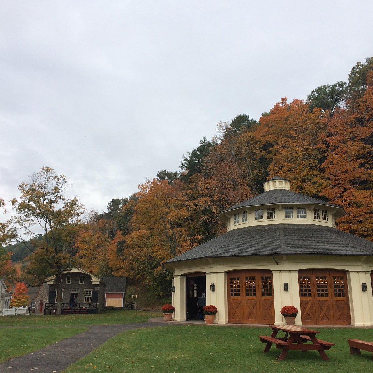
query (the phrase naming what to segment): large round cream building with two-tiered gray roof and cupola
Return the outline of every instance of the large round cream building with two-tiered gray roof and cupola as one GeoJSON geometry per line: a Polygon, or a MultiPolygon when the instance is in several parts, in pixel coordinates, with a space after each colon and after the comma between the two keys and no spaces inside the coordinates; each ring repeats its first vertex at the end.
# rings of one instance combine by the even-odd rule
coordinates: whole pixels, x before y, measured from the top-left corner
{"type": "Polygon", "coordinates": [[[373,325],[373,242],[340,231],[342,207],[290,190],[275,176],[264,193],[222,211],[227,232],[163,264],[173,273],[174,320],[282,325],[373,325]]]}

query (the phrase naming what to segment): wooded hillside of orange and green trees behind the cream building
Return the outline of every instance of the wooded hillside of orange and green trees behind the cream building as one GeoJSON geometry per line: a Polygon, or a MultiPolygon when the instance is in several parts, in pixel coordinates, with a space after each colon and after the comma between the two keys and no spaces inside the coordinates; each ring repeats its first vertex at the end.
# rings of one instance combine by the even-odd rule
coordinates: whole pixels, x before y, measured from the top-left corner
{"type": "Polygon", "coordinates": [[[373,240],[373,57],[348,82],[315,88],[306,101],[282,98],[259,122],[238,115],[218,133],[188,152],[180,171],[160,170],[136,194],[91,213],[75,238],[79,266],[167,294],[162,262],[225,232],[219,211],[263,192],[275,175],[344,207],[338,228],[373,240]]]}

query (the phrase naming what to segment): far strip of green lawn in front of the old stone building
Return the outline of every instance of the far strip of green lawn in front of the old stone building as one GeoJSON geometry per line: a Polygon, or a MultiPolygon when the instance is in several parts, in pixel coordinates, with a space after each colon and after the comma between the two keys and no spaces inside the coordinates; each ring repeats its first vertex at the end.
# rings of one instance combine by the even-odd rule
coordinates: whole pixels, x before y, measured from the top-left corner
{"type": "Polygon", "coordinates": [[[150,317],[162,317],[160,312],[137,310],[109,310],[103,313],[91,315],[26,315],[0,317],[0,326],[80,326],[80,325],[104,325],[141,323],[150,317]]]}

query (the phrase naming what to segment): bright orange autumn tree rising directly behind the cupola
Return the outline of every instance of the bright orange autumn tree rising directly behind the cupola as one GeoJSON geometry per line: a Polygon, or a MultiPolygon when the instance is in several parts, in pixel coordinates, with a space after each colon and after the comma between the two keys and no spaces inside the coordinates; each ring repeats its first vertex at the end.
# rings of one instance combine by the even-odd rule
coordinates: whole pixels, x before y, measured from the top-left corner
{"type": "Polygon", "coordinates": [[[321,109],[311,113],[303,100],[288,103],[286,97],[261,117],[255,135],[263,148],[268,174],[291,179],[297,192],[320,195],[328,117],[321,109]]]}

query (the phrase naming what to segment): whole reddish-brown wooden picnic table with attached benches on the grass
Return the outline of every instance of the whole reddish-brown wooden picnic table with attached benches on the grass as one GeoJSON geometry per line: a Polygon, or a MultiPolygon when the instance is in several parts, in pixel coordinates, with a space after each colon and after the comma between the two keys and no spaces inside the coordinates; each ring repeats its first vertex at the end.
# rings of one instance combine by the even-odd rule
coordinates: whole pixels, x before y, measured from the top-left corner
{"type": "Polygon", "coordinates": [[[276,348],[282,350],[278,360],[284,360],[289,350],[302,350],[303,352],[317,350],[323,360],[329,360],[325,350],[330,350],[330,347],[335,346],[334,343],[317,339],[316,334],[320,333],[318,330],[292,325],[269,325],[269,327],[272,328],[270,336],[258,335],[258,337],[260,338],[260,342],[266,343],[263,352],[268,352],[272,344],[275,344],[276,348]],[[276,338],[279,331],[285,332],[285,336],[276,338]]]}

